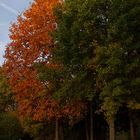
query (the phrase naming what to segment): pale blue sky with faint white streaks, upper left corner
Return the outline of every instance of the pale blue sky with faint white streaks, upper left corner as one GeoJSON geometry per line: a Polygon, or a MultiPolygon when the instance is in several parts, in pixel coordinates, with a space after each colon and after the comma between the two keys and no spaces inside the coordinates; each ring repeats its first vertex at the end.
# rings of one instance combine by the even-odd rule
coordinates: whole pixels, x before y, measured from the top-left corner
{"type": "Polygon", "coordinates": [[[9,27],[33,0],[0,0],[0,65],[4,62],[5,45],[10,42],[9,27]]]}

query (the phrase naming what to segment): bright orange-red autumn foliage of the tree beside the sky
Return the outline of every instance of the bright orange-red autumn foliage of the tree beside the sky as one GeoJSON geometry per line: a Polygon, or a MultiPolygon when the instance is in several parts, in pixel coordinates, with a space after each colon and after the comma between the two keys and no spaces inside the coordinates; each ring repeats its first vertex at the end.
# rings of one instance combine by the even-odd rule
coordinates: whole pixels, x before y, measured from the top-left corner
{"type": "Polygon", "coordinates": [[[53,9],[61,4],[59,0],[35,0],[10,28],[12,41],[6,48],[4,69],[23,118],[30,116],[33,120],[46,121],[63,115],[80,115],[75,101],[60,106],[60,101],[52,97],[55,80],[48,77],[40,80],[36,67],[41,64],[46,69],[56,69],[51,62],[55,47],[51,33],[57,28],[53,9]]]}

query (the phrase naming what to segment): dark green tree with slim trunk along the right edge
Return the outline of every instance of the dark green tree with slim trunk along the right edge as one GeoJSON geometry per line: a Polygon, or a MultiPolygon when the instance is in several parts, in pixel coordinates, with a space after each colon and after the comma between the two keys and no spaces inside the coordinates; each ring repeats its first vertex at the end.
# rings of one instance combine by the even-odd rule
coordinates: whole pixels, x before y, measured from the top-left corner
{"type": "Polygon", "coordinates": [[[128,3],[124,1],[123,4],[124,10],[126,11],[122,16],[119,18],[116,30],[116,37],[119,40],[121,46],[124,48],[125,53],[125,78],[126,78],[126,85],[125,88],[127,89],[127,96],[126,96],[126,104],[129,108],[130,114],[130,132],[131,132],[131,139],[135,139],[135,130],[134,130],[134,119],[135,118],[135,111],[139,109],[140,97],[139,97],[139,86],[140,86],[140,73],[138,71],[140,66],[140,47],[139,47],[139,1],[131,1],[128,3]],[[120,23],[122,23],[120,25],[120,23]],[[121,35],[120,31],[122,32],[121,35]],[[128,96],[129,95],[129,96],[128,96]]]}

